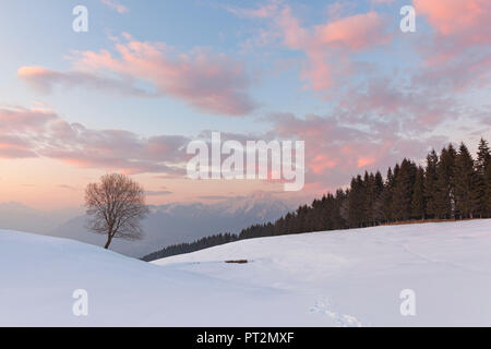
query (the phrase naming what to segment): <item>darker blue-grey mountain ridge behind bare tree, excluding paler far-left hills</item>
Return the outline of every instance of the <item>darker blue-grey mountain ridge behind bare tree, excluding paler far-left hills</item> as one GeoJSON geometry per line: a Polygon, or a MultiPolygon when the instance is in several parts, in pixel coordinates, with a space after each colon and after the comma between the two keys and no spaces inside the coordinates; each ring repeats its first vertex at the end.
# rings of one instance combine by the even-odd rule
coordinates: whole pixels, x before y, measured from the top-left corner
{"type": "MultiPolygon", "coordinates": [[[[192,242],[220,232],[238,233],[243,227],[275,220],[291,209],[291,205],[267,193],[230,197],[212,204],[151,205],[151,213],[143,222],[144,239],[115,240],[110,249],[128,256],[142,257],[167,245],[192,242]]],[[[85,225],[85,215],[80,215],[48,234],[103,245],[106,238],[89,232],[85,225]]]]}

